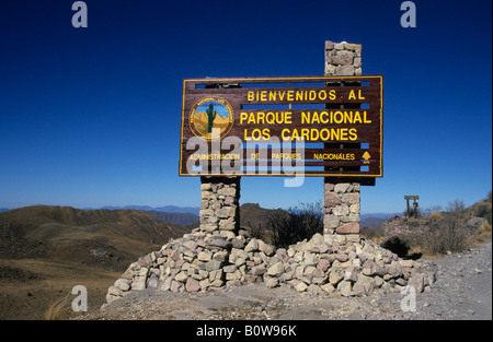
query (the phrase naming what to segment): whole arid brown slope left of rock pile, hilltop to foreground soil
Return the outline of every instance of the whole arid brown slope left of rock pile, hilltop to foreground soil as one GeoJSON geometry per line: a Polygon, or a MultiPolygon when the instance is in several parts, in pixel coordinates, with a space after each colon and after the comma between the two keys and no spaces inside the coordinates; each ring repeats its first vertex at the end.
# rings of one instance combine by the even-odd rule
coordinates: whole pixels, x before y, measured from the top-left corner
{"type": "Polygon", "coordinates": [[[88,288],[94,309],[128,263],[186,232],[138,210],[33,205],[1,212],[0,319],[68,318],[74,285],[88,288]]]}

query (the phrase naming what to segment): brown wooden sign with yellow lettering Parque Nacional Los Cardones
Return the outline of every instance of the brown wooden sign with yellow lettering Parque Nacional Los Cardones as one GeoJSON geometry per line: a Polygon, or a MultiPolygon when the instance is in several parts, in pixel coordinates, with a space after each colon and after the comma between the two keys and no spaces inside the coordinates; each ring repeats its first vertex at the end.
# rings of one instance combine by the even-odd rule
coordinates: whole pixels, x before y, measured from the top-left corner
{"type": "Polygon", "coordinates": [[[382,177],[383,78],[183,81],[180,176],[382,177]]]}

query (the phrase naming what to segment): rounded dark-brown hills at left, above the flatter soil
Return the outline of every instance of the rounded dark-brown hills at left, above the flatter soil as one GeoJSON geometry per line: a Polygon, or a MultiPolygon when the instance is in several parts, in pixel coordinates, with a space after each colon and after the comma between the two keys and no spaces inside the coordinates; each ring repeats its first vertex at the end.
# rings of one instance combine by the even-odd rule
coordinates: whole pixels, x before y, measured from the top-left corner
{"type": "Polygon", "coordinates": [[[185,232],[181,225],[137,210],[33,205],[0,213],[0,257],[33,257],[35,250],[36,258],[95,259],[101,264],[110,255],[134,258],[185,232]]]}

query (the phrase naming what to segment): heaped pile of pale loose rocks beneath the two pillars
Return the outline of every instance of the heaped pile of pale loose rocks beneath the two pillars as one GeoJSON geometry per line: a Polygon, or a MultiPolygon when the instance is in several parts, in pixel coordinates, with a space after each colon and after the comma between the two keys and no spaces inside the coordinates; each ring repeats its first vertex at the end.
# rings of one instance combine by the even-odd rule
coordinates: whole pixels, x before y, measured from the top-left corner
{"type": "Polygon", "coordinates": [[[374,291],[428,290],[434,273],[377,244],[345,235],[316,234],[274,248],[246,231],[231,237],[196,229],[131,263],[108,288],[112,303],[133,291],[206,292],[250,283],[287,284],[298,292],[363,296],[374,291]]]}

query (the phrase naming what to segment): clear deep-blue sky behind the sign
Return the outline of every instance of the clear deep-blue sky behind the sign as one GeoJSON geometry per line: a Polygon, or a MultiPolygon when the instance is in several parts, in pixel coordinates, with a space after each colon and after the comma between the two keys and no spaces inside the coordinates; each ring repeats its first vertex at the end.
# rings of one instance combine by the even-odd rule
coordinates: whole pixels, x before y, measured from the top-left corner
{"type": "MultiPolygon", "coordinates": [[[[182,80],[322,75],[324,42],[385,76],[383,178],[362,213],[467,205],[492,188],[492,4],[414,1],[2,1],[0,208],[198,207],[179,177],[182,80]]],[[[243,177],[241,203],[322,200],[322,179],[243,177]]]]}

